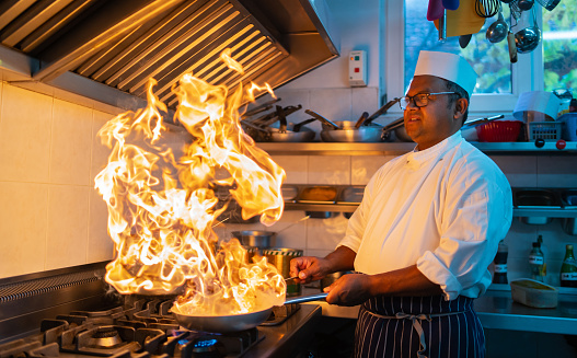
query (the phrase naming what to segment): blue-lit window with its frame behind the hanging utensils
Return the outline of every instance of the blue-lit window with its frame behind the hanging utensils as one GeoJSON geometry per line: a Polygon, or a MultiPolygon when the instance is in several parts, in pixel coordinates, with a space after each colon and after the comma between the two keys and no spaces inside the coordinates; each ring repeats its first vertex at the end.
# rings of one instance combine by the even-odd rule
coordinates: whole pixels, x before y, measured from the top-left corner
{"type": "Polygon", "coordinates": [[[535,50],[518,54],[515,65],[509,60],[507,39],[497,44],[486,39],[486,31],[497,15],[486,19],[469,46],[462,49],[458,37],[448,37],[445,43],[438,41],[438,30],[426,20],[428,1],[386,1],[385,85],[389,99],[404,93],[422,49],[460,54],[471,62],[480,74],[472,112],[510,112],[519,94],[527,91],[566,88],[573,89],[577,96],[577,25],[574,10],[569,10],[577,8],[577,0],[561,0],[552,11],[543,9],[539,1],[552,0],[535,1],[535,11],[523,11],[519,19],[511,19],[509,5],[501,3],[506,22],[511,24],[512,20],[513,33],[533,25],[534,13],[543,34],[535,50]],[[399,71],[399,68],[404,70],[399,71]]]}

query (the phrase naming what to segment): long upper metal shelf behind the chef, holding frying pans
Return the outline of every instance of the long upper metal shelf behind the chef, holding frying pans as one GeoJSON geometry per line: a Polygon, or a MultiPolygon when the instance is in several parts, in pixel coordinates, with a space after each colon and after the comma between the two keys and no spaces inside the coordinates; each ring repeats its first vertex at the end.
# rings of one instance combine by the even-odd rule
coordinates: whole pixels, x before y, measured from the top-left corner
{"type": "MultiPolygon", "coordinates": [[[[533,142],[471,142],[492,154],[577,154],[577,141],[566,143],[565,149],[559,150],[555,141],[546,141],[542,148],[533,142]]],[[[258,142],[256,146],[273,155],[402,155],[415,148],[414,142],[258,142]]]]}

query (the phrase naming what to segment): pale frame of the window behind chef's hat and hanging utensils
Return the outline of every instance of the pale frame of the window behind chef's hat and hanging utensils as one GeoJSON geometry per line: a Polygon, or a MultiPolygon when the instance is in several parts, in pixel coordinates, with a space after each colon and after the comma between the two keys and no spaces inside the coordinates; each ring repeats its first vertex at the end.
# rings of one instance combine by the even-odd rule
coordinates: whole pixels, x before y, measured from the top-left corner
{"type": "MultiPolygon", "coordinates": [[[[389,100],[404,95],[403,70],[405,61],[405,1],[404,0],[383,0],[385,12],[385,26],[383,28],[385,39],[385,93],[389,100]]],[[[535,14],[538,25],[542,26],[542,9],[535,2],[535,14]]],[[[522,13],[516,28],[523,28],[531,23],[528,11],[522,13]]],[[[427,21],[424,19],[423,21],[427,21]]],[[[492,113],[512,113],[517,99],[520,93],[528,91],[542,91],[543,83],[543,45],[530,54],[518,54],[517,63],[511,68],[511,89],[508,94],[473,94],[471,99],[470,113],[492,114],[492,113]],[[526,76],[529,73],[530,76],[526,76]]],[[[399,106],[390,109],[391,114],[401,114],[399,106]]]]}

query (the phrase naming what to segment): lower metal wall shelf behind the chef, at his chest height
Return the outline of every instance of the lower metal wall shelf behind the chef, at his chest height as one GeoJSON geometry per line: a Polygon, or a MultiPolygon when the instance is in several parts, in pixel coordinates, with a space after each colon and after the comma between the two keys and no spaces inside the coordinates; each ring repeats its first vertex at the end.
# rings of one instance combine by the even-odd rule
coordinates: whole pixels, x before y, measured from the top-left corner
{"type": "MultiPolygon", "coordinates": [[[[355,212],[356,204],[302,204],[285,203],[285,210],[355,212]]],[[[513,217],[577,218],[577,208],[513,208],[513,217]]]]}

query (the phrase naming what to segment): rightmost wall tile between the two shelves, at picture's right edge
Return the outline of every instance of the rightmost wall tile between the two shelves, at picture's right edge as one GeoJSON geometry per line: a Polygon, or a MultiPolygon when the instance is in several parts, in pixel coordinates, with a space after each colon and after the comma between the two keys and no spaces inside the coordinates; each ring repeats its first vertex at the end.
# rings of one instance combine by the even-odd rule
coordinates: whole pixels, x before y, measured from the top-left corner
{"type": "Polygon", "coordinates": [[[576,164],[577,159],[575,157],[538,157],[538,186],[577,187],[576,164]]]}

